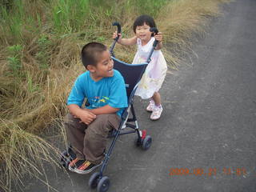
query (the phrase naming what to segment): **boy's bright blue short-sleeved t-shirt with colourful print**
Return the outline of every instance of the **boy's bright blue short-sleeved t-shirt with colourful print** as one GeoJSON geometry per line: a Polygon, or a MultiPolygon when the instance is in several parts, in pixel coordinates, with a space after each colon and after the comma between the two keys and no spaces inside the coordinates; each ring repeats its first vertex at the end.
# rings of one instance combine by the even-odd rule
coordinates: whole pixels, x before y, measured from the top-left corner
{"type": "Polygon", "coordinates": [[[88,109],[96,109],[102,106],[112,106],[120,108],[117,114],[122,115],[122,111],[127,107],[126,86],[122,75],[118,70],[114,70],[113,77],[102,78],[94,82],[90,78],[90,71],[78,76],[67,99],[67,105],[76,104],[82,106],[84,99],[87,98],[90,106],[88,109]]]}

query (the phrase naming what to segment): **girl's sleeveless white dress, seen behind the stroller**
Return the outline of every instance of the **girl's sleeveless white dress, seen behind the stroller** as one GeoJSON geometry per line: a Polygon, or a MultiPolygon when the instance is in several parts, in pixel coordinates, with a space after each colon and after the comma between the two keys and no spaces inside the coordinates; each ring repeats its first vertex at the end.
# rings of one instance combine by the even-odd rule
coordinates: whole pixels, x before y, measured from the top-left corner
{"type": "MultiPolygon", "coordinates": [[[[138,50],[135,54],[133,64],[140,64],[146,62],[150,54],[150,50],[153,47],[155,38],[152,37],[150,42],[145,46],[142,46],[142,40],[137,39],[138,50]]],[[[151,62],[146,67],[146,71],[142,76],[141,81],[138,83],[138,89],[135,95],[140,96],[143,99],[151,98],[154,92],[162,86],[162,82],[166,78],[167,65],[166,60],[163,57],[161,50],[154,50],[151,56],[151,62]]]]}

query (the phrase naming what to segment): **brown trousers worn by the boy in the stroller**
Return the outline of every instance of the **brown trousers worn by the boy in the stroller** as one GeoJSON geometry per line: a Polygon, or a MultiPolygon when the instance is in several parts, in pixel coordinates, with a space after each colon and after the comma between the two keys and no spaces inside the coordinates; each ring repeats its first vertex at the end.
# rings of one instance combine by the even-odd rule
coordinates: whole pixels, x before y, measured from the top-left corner
{"type": "Polygon", "coordinates": [[[99,164],[104,158],[107,136],[112,129],[118,129],[120,117],[118,114],[100,114],[87,126],[67,114],[64,118],[67,139],[74,149],[78,159],[86,159],[99,164]]]}

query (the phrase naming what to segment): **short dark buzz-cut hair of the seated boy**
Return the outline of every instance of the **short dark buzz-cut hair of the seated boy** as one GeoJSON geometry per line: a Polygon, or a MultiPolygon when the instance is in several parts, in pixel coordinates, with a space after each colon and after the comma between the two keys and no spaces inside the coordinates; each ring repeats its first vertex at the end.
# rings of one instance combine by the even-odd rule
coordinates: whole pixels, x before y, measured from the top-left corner
{"type": "Polygon", "coordinates": [[[82,64],[86,67],[88,65],[96,66],[98,58],[102,52],[106,51],[107,48],[99,42],[89,42],[82,47],[81,58],[82,64]]]}

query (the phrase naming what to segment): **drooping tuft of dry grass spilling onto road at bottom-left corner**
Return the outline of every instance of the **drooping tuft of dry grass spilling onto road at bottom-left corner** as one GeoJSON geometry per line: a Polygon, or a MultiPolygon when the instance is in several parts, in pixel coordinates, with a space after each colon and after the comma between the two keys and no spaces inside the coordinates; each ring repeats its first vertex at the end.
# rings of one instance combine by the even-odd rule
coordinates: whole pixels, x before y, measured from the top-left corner
{"type": "MultiPolygon", "coordinates": [[[[0,167],[1,170],[6,170],[1,174],[4,189],[10,190],[14,181],[22,184],[24,174],[47,178],[42,165],[57,162],[55,157],[58,157],[58,151],[42,138],[14,124],[4,126],[5,130],[1,127],[1,142],[4,144],[0,148],[0,161],[3,162],[0,167]]],[[[55,163],[55,166],[58,164],[55,163]]]]}

